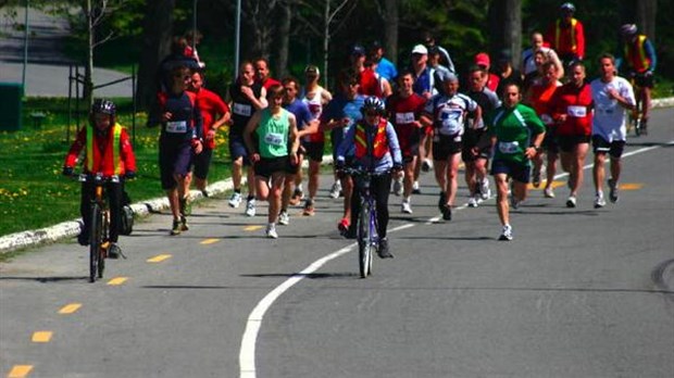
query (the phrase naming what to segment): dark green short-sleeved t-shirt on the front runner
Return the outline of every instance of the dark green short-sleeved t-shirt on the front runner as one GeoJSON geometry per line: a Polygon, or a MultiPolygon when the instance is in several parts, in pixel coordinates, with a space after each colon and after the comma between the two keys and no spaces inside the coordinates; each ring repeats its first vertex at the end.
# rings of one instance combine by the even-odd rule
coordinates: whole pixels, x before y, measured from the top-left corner
{"type": "Polygon", "coordinates": [[[490,137],[496,136],[494,160],[526,163],[524,151],[529,147],[532,137],[544,133],[546,126],[536,112],[521,103],[514,108],[501,105],[486,117],[490,137]]]}

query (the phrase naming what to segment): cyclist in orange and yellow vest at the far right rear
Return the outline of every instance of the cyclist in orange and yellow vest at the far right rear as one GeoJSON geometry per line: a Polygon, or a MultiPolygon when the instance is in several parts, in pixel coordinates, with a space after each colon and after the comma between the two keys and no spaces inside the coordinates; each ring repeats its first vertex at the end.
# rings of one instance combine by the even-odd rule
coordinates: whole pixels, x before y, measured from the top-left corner
{"type": "Polygon", "coordinates": [[[658,64],[656,48],[645,35],[637,33],[635,24],[621,26],[620,34],[623,41],[623,49],[619,50],[619,58],[615,65],[620,68],[621,63],[625,63],[628,68],[628,76],[634,78],[637,100],[641,102],[642,121],[641,133],[648,133],[648,115],[650,110],[650,97],[653,89],[653,73],[658,64]],[[622,56],[621,56],[622,55],[622,56]],[[640,89],[640,92],[639,92],[640,89]]]}

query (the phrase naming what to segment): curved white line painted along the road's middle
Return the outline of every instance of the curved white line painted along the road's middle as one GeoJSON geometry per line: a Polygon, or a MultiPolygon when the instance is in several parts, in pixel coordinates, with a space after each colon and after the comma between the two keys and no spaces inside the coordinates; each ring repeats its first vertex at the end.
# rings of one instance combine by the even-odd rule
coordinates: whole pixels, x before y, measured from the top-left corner
{"type": "MultiPolygon", "coordinates": [[[[674,140],[667,142],[666,144],[674,144],[674,140]]],[[[648,151],[651,151],[651,150],[654,150],[661,147],[662,146],[652,146],[652,147],[641,148],[638,150],[624,153],[623,156],[627,158],[627,156],[636,155],[638,153],[648,152],[648,151]]],[[[591,164],[588,164],[584,166],[584,168],[587,169],[591,166],[592,166],[591,164]]],[[[563,173],[563,174],[557,175],[554,178],[560,178],[560,177],[564,177],[567,175],[569,175],[567,173],[563,173]]],[[[464,205],[459,206],[457,210],[465,209],[465,207],[466,205],[464,204],[464,205]]],[[[428,225],[428,224],[438,222],[439,218],[440,218],[439,216],[436,216],[434,218],[430,218],[425,224],[428,225]]],[[[395,232],[401,229],[412,228],[414,226],[415,226],[414,224],[404,224],[404,225],[390,229],[389,232],[395,232]]],[[[355,245],[357,243],[351,243],[340,249],[337,252],[330,253],[322,259],[316,260],[314,263],[305,267],[302,272],[292,275],[290,278],[288,278],[283,284],[277,286],[274,290],[272,290],[269,294],[266,294],[262,299],[262,301],[258,303],[258,305],[253,308],[253,311],[248,316],[248,320],[246,322],[246,330],[244,331],[244,337],[241,338],[241,350],[239,351],[239,377],[240,378],[257,378],[255,344],[258,342],[258,333],[260,332],[260,327],[262,326],[262,319],[264,318],[264,314],[270,310],[270,307],[272,306],[272,304],[274,304],[274,302],[278,299],[278,297],[280,297],[283,293],[288,291],[299,281],[304,279],[308,275],[313,274],[316,270],[319,270],[326,263],[351,252],[355,245]]]]}

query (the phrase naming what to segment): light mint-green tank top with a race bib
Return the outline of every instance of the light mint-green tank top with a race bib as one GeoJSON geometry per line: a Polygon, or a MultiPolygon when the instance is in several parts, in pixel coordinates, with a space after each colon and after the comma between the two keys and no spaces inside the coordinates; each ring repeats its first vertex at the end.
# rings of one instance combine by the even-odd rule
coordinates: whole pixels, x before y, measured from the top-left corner
{"type": "Polygon", "coordinates": [[[288,155],[288,134],[290,133],[288,114],[285,109],[280,110],[277,117],[272,116],[269,108],[262,111],[260,125],[255,130],[260,156],[273,159],[288,155]]]}

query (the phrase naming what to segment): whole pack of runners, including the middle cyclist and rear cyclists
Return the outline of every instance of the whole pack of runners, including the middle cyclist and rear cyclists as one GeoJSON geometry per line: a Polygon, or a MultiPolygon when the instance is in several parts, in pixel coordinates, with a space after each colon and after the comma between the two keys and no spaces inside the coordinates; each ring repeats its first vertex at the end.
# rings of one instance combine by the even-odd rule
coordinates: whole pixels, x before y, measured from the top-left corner
{"type": "MultiPolygon", "coordinates": [[[[424,171],[434,172],[445,220],[452,218],[460,164],[464,164],[470,207],[491,197],[491,174],[502,226],[499,239],[512,240],[510,207],[525,200],[532,179],[534,187],[542,184],[544,155],[545,197],[554,197],[559,155],[570,176],[566,205],[576,206],[591,140],[595,207],[606,205],[607,155],[611,162],[608,197],[617,202],[625,110],[636,103],[633,88],[616,76],[616,60],[609,53],[599,59],[599,78],[588,83],[584,33],[573,17],[575,7],[564,3],[560,12],[548,40],[541,33],[532,34],[532,48],[524,51],[521,67],[512,66],[507,51],[495,67],[488,54],[477,54],[465,75],[464,92],[449,53],[430,35],[413,47],[409,65],[400,71],[384,56],[379,43],[370,49],[353,46],[334,94],[319,84],[315,65],[305,67],[302,81],[276,80],[265,59],[245,61],[226,101],[203,87],[203,63],[195,59],[194,46],[186,51],[184,41],[175,43],[173,58],[162,63],[162,91],[149,119],[149,125],[161,126],[160,171],[174,218],[171,234],[188,229],[192,176],[197,188],[209,194],[214,135],[224,126],[229,128],[233,162],[234,192],[228,204],[239,207],[246,200],[245,214],[254,216],[257,201],[269,201],[265,235],[270,238],[278,237],[277,224],[289,224],[289,206],[301,205],[305,216],[316,211],[327,136],[335,162],[328,196],[344,198],[337,227],[345,237],[355,236],[360,202],[354,180],[344,167],[361,166],[378,174],[371,191],[377,202],[382,257],[391,256],[386,239],[389,192],[401,197],[402,213],[412,214],[412,196],[420,193],[419,177],[424,171]]],[[[652,43],[634,25],[623,25],[620,33],[625,46],[622,62],[644,87],[652,87],[652,43]]]]}

